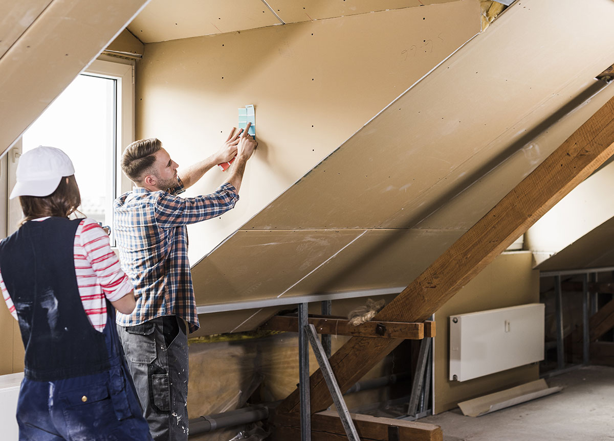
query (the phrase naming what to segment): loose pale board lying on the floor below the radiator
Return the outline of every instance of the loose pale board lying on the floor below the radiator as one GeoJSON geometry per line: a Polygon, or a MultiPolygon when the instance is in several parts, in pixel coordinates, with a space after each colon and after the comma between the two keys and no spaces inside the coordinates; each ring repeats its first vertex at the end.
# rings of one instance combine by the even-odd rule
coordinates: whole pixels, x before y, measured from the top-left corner
{"type": "Polygon", "coordinates": [[[543,378],[505,391],[484,395],[459,403],[465,416],[481,416],[506,407],[551,395],[562,390],[561,386],[549,388],[543,378]]]}

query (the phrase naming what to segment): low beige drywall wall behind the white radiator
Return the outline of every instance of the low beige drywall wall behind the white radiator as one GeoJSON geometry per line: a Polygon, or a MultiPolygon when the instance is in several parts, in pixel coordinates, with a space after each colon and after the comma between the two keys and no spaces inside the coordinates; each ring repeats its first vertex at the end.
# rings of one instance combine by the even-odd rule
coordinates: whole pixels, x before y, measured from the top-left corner
{"type": "Polygon", "coordinates": [[[539,302],[539,272],[531,268],[530,251],[503,253],[435,313],[435,413],[457,407],[461,401],[539,378],[539,367],[532,364],[467,382],[449,380],[449,316],[539,302]]]}

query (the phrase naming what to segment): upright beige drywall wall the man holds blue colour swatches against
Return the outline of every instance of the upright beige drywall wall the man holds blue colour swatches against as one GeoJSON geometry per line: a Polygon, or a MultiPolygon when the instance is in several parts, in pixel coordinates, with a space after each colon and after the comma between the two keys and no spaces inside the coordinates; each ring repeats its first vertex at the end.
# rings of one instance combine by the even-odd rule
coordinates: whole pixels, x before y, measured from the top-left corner
{"type": "MultiPolygon", "coordinates": [[[[190,260],[241,228],[479,27],[479,7],[465,0],[147,44],[136,71],[136,136],[158,137],[180,172],[223,143],[238,107],[255,105],[259,145],[241,199],[220,219],[188,228],[190,260]]],[[[210,193],[226,176],[214,169],[185,196],[210,193]]],[[[326,188],[304,208],[344,204],[347,196],[333,201],[336,194],[326,188]]],[[[293,228],[308,228],[306,221],[293,228]]]]}

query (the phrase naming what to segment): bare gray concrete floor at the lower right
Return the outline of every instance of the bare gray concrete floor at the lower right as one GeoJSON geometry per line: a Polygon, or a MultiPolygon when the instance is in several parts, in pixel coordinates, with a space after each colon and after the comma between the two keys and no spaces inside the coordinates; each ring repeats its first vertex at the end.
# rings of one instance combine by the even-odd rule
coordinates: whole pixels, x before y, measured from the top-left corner
{"type": "Polygon", "coordinates": [[[422,418],[444,441],[614,440],[614,367],[588,366],[546,379],[551,396],[472,418],[459,408],[422,418]]]}

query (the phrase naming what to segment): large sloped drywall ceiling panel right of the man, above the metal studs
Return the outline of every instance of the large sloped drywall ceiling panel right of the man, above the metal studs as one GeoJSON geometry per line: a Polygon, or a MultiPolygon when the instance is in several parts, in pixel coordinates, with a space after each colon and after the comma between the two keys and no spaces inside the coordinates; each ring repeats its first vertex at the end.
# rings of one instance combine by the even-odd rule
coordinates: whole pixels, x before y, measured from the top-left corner
{"type": "MultiPolygon", "coordinates": [[[[197,301],[209,302],[211,291],[224,296],[225,277],[233,279],[222,291],[227,301],[411,282],[612,96],[612,87],[602,88],[594,76],[614,51],[604,42],[593,52],[593,44],[597,34],[612,32],[607,17],[614,4],[591,2],[595,14],[556,2],[564,13],[545,27],[542,17],[554,7],[546,3],[508,8],[196,264],[197,301]],[[572,22],[586,26],[587,40],[561,30],[572,22]],[[526,30],[522,37],[519,28],[526,30]],[[308,271],[292,264],[295,257],[262,252],[306,230],[346,243],[322,251],[308,271]],[[216,271],[229,265],[255,270],[216,271]],[[283,277],[256,286],[262,267],[283,277]]],[[[252,170],[247,199],[250,182],[262,176],[252,170]]],[[[315,250],[305,244],[292,252],[315,250]]]]}

